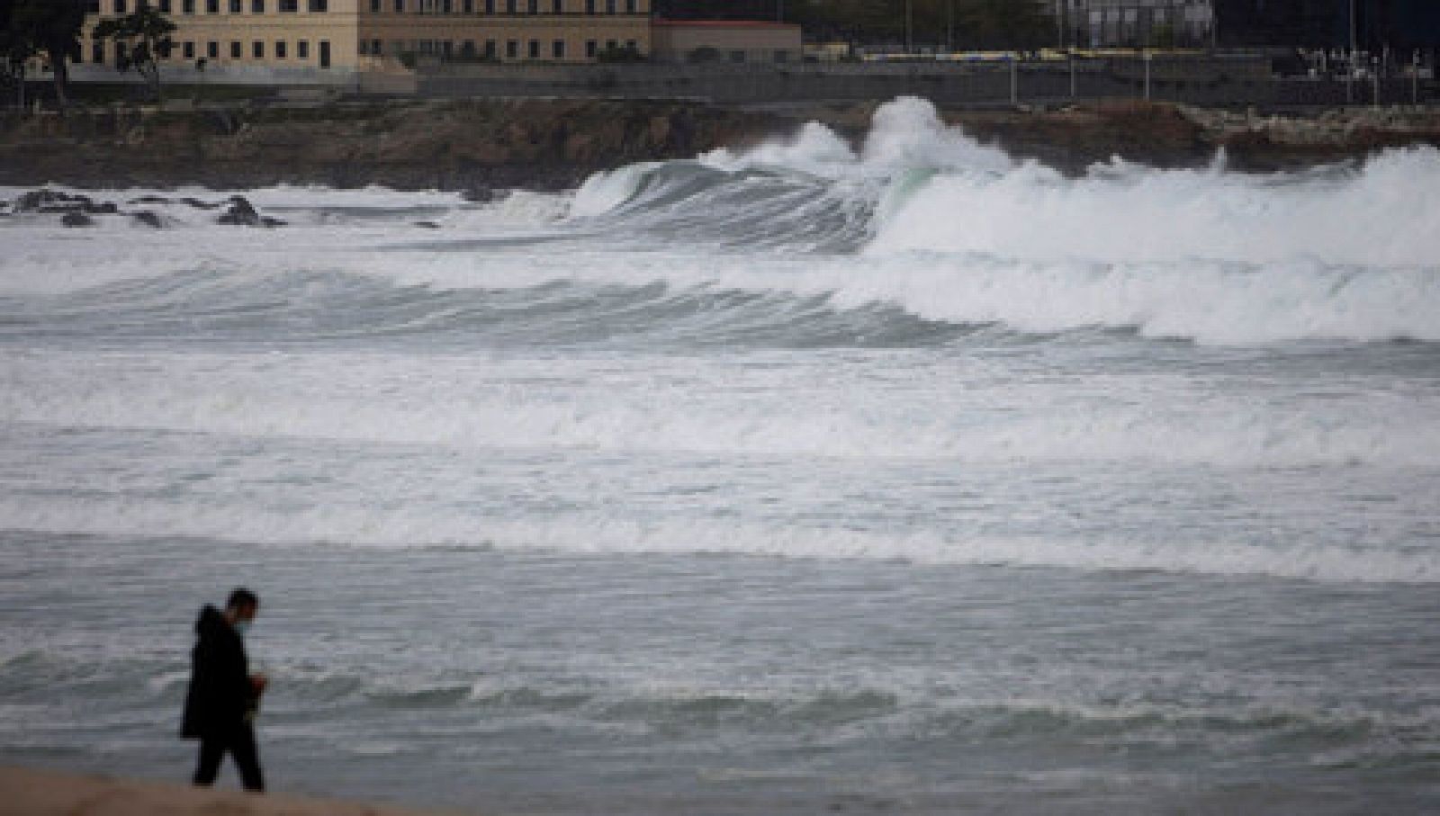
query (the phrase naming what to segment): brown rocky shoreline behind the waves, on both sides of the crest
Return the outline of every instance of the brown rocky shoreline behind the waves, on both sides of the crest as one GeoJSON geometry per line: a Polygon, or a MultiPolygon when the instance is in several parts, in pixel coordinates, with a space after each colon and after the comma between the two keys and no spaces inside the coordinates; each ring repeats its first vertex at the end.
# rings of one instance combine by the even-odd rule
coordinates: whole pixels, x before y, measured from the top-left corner
{"type": "MultiPolygon", "coordinates": [[[[495,190],[573,187],[632,161],[693,157],[793,134],[819,121],[858,140],[877,104],[782,108],[684,101],[472,99],[298,108],[107,108],[0,117],[0,184],[82,189],[278,183],[485,197],[495,190]]],[[[1273,171],[1440,145],[1440,111],[1326,111],[1260,117],[1171,104],[1104,102],[1061,109],[945,109],[985,142],[1067,174],[1119,157],[1155,167],[1273,171]]]]}

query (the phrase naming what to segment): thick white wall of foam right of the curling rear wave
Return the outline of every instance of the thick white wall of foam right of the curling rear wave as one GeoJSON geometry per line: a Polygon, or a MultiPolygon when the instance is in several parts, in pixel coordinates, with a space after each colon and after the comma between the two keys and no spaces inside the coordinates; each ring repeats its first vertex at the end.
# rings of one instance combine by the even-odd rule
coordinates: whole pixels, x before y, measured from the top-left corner
{"type": "Polygon", "coordinates": [[[1264,177],[1112,166],[1079,180],[1038,166],[940,174],[883,225],[871,253],[1041,262],[1331,265],[1440,262],[1440,150],[1391,151],[1354,173],[1264,177]]]}

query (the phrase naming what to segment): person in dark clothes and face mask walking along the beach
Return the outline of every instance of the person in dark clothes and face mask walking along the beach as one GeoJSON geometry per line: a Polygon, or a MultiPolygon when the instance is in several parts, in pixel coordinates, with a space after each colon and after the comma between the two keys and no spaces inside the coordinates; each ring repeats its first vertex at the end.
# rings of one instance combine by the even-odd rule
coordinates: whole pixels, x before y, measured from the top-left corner
{"type": "Polygon", "coordinates": [[[255,593],[236,589],[225,612],[206,604],[194,623],[199,640],[190,653],[190,689],[180,724],[181,737],[200,740],[194,784],[213,784],[220,760],[229,753],[240,770],[245,790],[265,790],[253,724],[265,676],[251,674],[242,639],[259,607],[255,593]]]}

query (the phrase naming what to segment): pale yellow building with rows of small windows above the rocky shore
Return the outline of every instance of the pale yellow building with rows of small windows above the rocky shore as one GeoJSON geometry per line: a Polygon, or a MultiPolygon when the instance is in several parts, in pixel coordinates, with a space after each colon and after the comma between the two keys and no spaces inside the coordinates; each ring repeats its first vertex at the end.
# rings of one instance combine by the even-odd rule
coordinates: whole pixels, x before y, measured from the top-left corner
{"type": "MultiPolygon", "coordinates": [[[[81,65],[115,66],[95,23],[143,0],[91,0],[81,65]]],[[[148,0],[174,24],[166,63],[356,73],[412,58],[596,62],[651,50],[651,0],[148,0]]]]}

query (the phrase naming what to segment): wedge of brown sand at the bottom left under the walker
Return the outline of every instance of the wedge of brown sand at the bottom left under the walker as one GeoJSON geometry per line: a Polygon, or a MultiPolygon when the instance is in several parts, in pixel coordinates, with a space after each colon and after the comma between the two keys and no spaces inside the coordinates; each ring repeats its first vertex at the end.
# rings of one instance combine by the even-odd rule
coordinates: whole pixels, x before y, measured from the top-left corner
{"type": "MultiPolygon", "coordinates": [[[[426,812],[428,816],[442,816],[426,812]]],[[[425,816],[288,794],[0,767],[0,816],[425,816]]],[[[451,813],[449,816],[456,816],[451,813]]]]}

